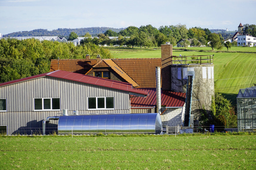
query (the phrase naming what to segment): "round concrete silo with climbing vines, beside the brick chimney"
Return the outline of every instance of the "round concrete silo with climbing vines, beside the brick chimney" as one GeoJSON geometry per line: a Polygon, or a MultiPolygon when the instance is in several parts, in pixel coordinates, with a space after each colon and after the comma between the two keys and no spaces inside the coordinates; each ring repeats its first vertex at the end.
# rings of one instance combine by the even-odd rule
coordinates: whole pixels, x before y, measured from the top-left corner
{"type": "Polygon", "coordinates": [[[200,115],[204,105],[210,110],[214,97],[214,65],[171,65],[171,90],[186,93],[188,74],[193,73],[192,107],[194,117],[200,115]]]}

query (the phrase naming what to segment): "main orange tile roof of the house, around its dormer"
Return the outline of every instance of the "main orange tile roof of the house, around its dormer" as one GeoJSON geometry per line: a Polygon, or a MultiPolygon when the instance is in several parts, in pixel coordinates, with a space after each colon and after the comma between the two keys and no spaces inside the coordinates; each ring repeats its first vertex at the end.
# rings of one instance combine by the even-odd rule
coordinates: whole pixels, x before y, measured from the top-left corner
{"type": "MultiPolygon", "coordinates": [[[[51,71],[64,70],[80,74],[87,74],[90,70],[88,69],[89,66],[102,68],[111,67],[104,60],[105,59],[101,60],[99,63],[96,63],[96,59],[72,59],[70,61],[52,60],[51,71]],[[87,64],[82,67],[82,62],[84,61],[90,61],[90,65],[87,64]]],[[[133,81],[139,85],[139,88],[156,87],[156,67],[161,67],[161,58],[125,58],[107,60],[112,60],[117,66],[119,66],[133,81]]]]}

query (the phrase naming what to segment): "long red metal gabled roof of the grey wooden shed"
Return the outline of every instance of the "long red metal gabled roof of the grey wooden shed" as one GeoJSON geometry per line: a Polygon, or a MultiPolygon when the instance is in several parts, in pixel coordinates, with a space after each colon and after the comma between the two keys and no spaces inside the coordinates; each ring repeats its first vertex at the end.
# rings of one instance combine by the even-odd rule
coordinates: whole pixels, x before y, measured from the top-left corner
{"type": "Polygon", "coordinates": [[[36,76],[31,76],[31,77],[26,77],[23,79],[18,79],[18,80],[1,83],[0,86],[6,86],[9,84],[14,84],[14,83],[27,81],[27,80],[31,80],[31,79],[36,79],[39,77],[45,77],[45,76],[55,77],[55,78],[59,78],[59,79],[66,79],[66,80],[70,80],[70,81],[77,81],[77,82],[81,82],[81,83],[92,84],[92,85],[96,85],[96,86],[102,86],[102,87],[107,87],[107,88],[117,89],[117,90],[122,90],[122,91],[129,91],[129,92],[143,94],[143,95],[148,95],[148,93],[146,91],[133,89],[132,84],[129,84],[129,83],[124,83],[121,81],[114,81],[114,80],[110,80],[110,79],[103,79],[103,78],[98,78],[98,77],[93,77],[93,76],[87,76],[87,75],[83,75],[83,74],[67,72],[67,71],[62,71],[62,70],[57,70],[57,71],[53,71],[53,72],[39,74],[36,76]]]}

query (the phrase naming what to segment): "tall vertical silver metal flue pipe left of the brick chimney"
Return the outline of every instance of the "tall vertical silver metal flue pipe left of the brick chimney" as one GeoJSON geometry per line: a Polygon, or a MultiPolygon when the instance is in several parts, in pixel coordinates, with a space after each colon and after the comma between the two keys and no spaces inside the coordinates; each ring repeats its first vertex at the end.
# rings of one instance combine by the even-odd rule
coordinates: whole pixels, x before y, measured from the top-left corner
{"type": "Polygon", "coordinates": [[[156,111],[161,114],[161,68],[156,67],[156,111]]]}

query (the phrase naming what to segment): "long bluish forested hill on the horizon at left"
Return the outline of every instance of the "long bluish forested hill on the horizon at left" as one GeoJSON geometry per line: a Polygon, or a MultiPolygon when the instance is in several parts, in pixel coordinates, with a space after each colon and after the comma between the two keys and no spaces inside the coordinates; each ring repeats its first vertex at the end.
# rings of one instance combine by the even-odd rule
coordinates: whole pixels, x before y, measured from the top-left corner
{"type": "Polygon", "coordinates": [[[36,29],[32,31],[19,31],[3,35],[3,37],[31,37],[31,36],[59,36],[68,37],[70,32],[75,32],[78,36],[84,36],[87,32],[93,37],[107,30],[119,32],[125,28],[110,28],[110,27],[89,27],[89,28],[58,28],[57,30],[48,31],[47,29],[36,29]]]}

